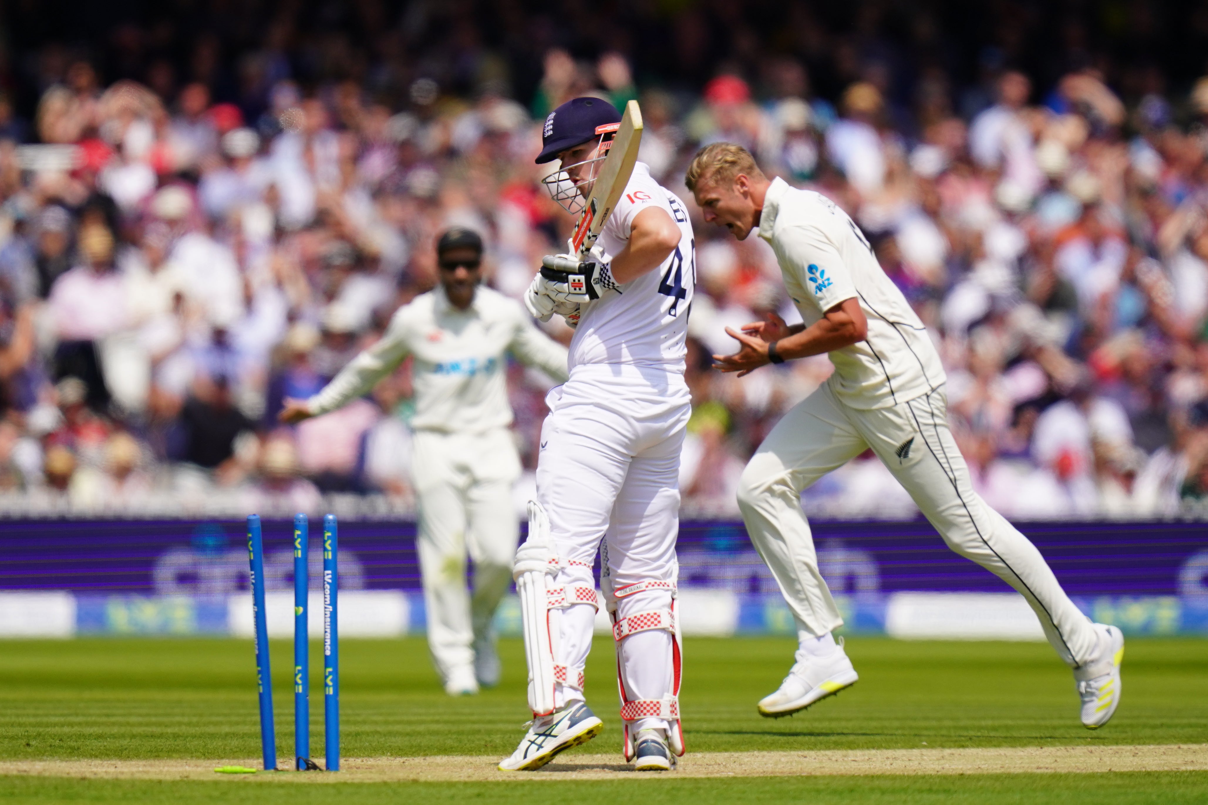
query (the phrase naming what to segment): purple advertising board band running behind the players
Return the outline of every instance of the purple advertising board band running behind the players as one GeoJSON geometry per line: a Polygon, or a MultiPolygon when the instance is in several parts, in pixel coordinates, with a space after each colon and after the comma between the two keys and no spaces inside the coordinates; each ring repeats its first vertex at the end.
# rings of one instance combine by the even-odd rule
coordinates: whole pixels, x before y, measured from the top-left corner
{"type": "MultiPolygon", "coordinates": [[[[836,593],[1009,589],[949,552],[923,520],[812,526],[820,568],[836,593]]],[[[1208,530],[1201,523],[1027,523],[1022,530],[1071,595],[1208,594],[1208,530]]],[[[291,524],[266,521],[263,533],[266,581],[269,589],[286,589],[291,524]]],[[[418,589],[414,539],[410,521],[341,523],[342,587],[418,589]]],[[[0,589],[208,596],[246,588],[242,521],[7,520],[0,523],[0,589]]],[[[681,585],[776,590],[741,523],[683,523],[679,556],[681,585]]],[[[319,561],[315,550],[315,578],[319,561]]]]}

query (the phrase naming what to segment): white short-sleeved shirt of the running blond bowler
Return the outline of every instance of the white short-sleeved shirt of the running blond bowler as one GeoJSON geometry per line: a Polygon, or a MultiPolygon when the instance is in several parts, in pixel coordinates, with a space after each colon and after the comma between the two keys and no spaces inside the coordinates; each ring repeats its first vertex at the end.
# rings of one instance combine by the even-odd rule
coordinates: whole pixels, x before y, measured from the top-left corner
{"type": "Polygon", "coordinates": [[[865,340],[830,354],[831,389],[852,408],[884,408],[925,395],[946,380],[923,322],[885,276],[847,212],[820,193],[772,181],[759,234],[784,274],[806,326],[846,299],[859,298],[865,340]]]}

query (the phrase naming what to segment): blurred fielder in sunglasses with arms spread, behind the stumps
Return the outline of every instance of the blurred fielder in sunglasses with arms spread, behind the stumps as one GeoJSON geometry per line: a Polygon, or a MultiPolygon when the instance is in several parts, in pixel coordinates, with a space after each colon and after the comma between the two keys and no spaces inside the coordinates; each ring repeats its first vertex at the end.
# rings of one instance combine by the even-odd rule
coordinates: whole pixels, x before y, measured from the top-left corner
{"type": "Polygon", "coordinates": [[[454,227],[436,245],[440,285],[394,314],[379,342],[309,399],[288,399],[283,422],[348,404],[414,357],[413,488],[428,646],[452,695],[499,682],[492,620],[511,581],[519,524],[512,485],[521,462],[509,425],[506,355],[567,378],[567,350],[519,303],[480,285],[482,239],[454,227]],[[474,593],[466,589],[466,553],[474,593]]]}

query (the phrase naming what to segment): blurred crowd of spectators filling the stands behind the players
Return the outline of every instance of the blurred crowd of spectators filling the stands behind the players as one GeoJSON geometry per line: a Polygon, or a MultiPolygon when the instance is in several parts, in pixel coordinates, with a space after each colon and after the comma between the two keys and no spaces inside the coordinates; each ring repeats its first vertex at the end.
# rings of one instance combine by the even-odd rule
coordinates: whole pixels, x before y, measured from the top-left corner
{"type": "MultiPolygon", "coordinates": [[[[410,507],[406,363],[372,397],[294,428],[275,422],[281,401],[318,391],[434,286],[448,226],[481,232],[487,281],[519,297],[573,223],[539,185],[540,121],[583,94],[640,100],[640,159],[697,215],[687,513],[733,514],[745,459],[830,373],[825,356],[742,380],[709,369],[733,351],[725,327],[800,320],[766,244],[709,231],[683,186],[696,148],[718,140],[867,234],[940,349],[949,418],[992,506],[1167,517],[1208,496],[1208,77],[1172,91],[1155,69],[1121,88],[1082,64],[1040,84],[992,51],[960,86],[918,66],[904,94],[887,62],[853,52],[823,94],[791,48],[755,48],[687,86],[639,81],[625,47],[583,59],[553,46],[516,97],[472,37],[449,46],[469,68],[451,57],[391,74],[383,56],[301,80],[289,27],[263,36],[237,91],[219,68],[194,64],[185,81],[155,62],[106,83],[95,60],[48,47],[28,115],[0,99],[10,507],[410,507]],[[379,92],[387,74],[395,88],[379,92]]],[[[341,53],[365,58],[315,58],[341,53]]],[[[521,501],[548,385],[510,368],[521,501]]],[[[805,504],[913,512],[867,456],[805,504]]]]}

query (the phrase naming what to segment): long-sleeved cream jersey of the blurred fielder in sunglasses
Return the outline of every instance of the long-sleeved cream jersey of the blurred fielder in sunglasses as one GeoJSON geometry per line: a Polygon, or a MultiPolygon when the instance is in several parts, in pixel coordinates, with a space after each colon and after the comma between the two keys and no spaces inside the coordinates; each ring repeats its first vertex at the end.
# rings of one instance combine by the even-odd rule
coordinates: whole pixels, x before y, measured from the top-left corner
{"type": "Polygon", "coordinates": [[[310,410],[325,414],[356,399],[413,355],[414,430],[506,427],[512,421],[506,352],[556,380],[568,377],[565,348],[539,332],[518,302],[478,286],[470,307],[459,310],[437,286],[400,308],[382,340],[310,398],[310,410]]]}

